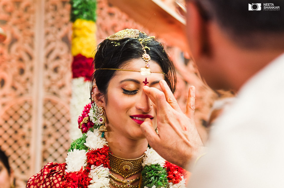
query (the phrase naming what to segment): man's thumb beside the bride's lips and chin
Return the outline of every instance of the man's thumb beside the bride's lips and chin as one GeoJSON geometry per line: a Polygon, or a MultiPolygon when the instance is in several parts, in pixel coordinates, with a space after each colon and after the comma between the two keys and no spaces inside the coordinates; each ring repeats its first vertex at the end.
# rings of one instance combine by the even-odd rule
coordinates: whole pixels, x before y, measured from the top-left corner
{"type": "Polygon", "coordinates": [[[160,137],[153,129],[153,123],[151,119],[146,118],[144,122],[140,125],[140,129],[148,140],[149,145],[153,147],[153,145],[158,143],[160,137]]]}

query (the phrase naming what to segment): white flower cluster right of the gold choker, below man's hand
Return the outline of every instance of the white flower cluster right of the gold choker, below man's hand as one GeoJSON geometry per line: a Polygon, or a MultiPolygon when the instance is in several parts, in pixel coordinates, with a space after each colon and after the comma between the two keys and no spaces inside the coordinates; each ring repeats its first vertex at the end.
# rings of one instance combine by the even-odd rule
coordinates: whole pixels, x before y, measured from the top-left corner
{"type": "Polygon", "coordinates": [[[143,163],[142,163],[143,167],[145,165],[151,165],[151,164],[159,164],[161,166],[164,166],[165,160],[153,148],[147,148],[145,153],[146,156],[143,157],[143,163]]]}

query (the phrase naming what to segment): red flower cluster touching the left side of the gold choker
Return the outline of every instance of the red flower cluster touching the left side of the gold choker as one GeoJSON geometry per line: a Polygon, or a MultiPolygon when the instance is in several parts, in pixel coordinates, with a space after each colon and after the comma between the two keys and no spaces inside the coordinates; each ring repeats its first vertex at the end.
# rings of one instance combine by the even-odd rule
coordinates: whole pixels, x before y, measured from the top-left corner
{"type": "Polygon", "coordinates": [[[87,155],[88,166],[87,169],[91,169],[92,165],[99,166],[103,164],[105,168],[110,168],[109,166],[109,147],[104,146],[97,150],[89,150],[87,155]]]}

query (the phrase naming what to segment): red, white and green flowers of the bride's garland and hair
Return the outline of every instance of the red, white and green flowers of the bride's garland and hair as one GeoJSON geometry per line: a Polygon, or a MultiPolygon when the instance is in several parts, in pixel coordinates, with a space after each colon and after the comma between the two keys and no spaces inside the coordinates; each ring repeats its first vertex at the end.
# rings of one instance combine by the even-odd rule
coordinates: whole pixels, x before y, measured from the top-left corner
{"type": "MultiPolygon", "coordinates": [[[[96,118],[96,104],[84,107],[78,123],[85,117],[86,131],[82,137],[72,142],[66,158],[63,188],[101,188],[109,187],[109,146],[101,137],[96,118]],[[88,126],[88,123],[93,127],[88,126]]],[[[83,124],[82,124],[83,125],[83,124]]],[[[147,148],[141,172],[144,188],[185,188],[185,170],[165,161],[153,148],[147,148]]]]}

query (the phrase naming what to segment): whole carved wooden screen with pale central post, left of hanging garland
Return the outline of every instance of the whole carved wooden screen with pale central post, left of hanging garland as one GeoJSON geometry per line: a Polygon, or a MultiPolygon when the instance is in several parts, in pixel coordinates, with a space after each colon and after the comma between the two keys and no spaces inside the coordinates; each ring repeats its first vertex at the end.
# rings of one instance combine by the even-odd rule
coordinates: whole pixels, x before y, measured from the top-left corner
{"type": "Polygon", "coordinates": [[[68,0],[0,1],[7,33],[0,43],[0,145],[16,187],[47,162],[64,162],[70,146],[69,14],[68,0]]]}

